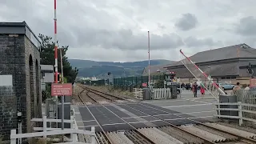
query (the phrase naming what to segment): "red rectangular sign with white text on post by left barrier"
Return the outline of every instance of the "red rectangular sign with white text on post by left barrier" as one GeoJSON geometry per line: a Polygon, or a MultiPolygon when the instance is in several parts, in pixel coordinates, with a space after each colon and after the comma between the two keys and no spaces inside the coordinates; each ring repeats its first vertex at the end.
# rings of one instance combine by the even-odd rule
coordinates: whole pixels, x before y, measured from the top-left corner
{"type": "Polygon", "coordinates": [[[72,84],[71,83],[52,83],[51,84],[51,95],[52,96],[71,96],[72,95],[72,84]]]}

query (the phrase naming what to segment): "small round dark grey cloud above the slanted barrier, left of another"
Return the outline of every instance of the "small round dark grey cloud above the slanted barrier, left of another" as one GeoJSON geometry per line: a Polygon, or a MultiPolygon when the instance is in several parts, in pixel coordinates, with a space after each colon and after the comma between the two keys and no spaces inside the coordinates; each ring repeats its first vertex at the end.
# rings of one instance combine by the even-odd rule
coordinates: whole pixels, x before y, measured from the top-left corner
{"type": "Polygon", "coordinates": [[[175,23],[175,26],[179,30],[187,31],[196,27],[198,24],[198,18],[194,14],[182,14],[182,18],[178,19],[178,22],[175,23]]]}

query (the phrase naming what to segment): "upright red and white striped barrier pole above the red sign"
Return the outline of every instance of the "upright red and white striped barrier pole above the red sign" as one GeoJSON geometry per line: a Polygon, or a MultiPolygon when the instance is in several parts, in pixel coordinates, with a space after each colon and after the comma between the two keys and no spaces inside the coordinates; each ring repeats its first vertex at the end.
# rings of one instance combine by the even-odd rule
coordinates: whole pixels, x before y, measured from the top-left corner
{"type": "Polygon", "coordinates": [[[58,43],[57,43],[57,17],[56,17],[56,0],[54,0],[54,58],[55,58],[55,83],[58,83],[58,43]]]}

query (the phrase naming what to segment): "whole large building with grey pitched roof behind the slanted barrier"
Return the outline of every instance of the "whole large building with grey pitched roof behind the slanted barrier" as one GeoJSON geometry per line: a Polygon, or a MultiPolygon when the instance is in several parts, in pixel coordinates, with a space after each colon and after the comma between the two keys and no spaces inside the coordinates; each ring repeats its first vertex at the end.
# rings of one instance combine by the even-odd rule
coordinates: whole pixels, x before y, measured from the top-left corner
{"type": "MultiPolygon", "coordinates": [[[[249,84],[249,74],[246,66],[249,62],[256,60],[256,49],[246,44],[238,44],[234,46],[226,46],[214,50],[206,50],[198,52],[190,57],[196,65],[210,76],[216,82],[240,82],[241,84],[249,84]]],[[[200,74],[187,60],[174,62],[166,66],[167,70],[173,71],[182,82],[194,82],[196,79],[186,69],[187,64],[196,77],[200,78],[200,74]]]]}

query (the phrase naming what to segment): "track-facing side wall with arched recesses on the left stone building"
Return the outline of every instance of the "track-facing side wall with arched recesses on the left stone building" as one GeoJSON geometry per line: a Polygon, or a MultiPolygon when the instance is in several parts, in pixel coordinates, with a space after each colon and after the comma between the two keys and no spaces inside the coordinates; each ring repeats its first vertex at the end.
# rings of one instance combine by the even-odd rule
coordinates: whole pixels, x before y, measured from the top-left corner
{"type": "MultiPolygon", "coordinates": [[[[26,109],[26,122],[31,127],[34,126],[34,123],[30,122],[31,118],[42,118],[40,52],[26,36],[25,49],[26,106],[28,107],[26,109]]],[[[28,132],[31,131],[30,127],[27,127],[28,132]]]]}

